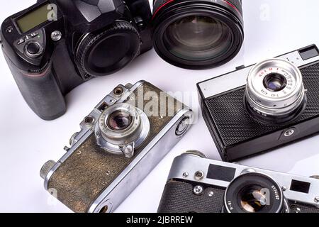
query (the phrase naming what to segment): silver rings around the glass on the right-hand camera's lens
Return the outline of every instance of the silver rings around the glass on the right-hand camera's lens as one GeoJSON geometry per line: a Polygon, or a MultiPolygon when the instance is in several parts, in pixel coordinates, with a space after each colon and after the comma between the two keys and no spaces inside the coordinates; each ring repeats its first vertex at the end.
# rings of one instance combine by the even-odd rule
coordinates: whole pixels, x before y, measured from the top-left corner
{"type": "Polygon", "coordinates": [[[306,96],[303,77],[295,65],[287,60],[269,59],[257,63],[248,74],[245,96],[253,109],[267,115],[281,116],[295,111],[306,96]],[[264,87],[268,74],[282,74],[287,85],[279,92],[271,92],[264,87]]]}

